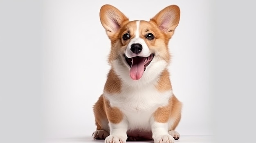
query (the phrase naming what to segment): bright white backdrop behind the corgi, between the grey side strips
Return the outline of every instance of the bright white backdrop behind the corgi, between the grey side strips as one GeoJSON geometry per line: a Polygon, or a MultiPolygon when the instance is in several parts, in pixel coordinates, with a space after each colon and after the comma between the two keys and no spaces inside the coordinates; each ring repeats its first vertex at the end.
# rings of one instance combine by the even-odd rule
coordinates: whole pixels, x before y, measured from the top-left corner
{"type": "Polygon", "coordinates": [[[43,2],[43,121],[47,138],[91,136],[92,106],[103,92],[110,40],[99,20],[112,4],[130,20],[149,20],[164,7],[180,7],[180,24],[170,41],[173,92],[182,101],[181,135],[212,134],[212,3],[208,0],[43,2]]]}

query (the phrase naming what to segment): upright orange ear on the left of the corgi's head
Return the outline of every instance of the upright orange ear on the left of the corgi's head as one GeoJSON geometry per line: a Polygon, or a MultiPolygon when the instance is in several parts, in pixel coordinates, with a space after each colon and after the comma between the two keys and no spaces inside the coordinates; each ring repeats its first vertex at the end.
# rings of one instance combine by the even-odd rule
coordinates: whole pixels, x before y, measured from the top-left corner
{"type": "Polygon", "coordinates": [[[106,29],[109,38],[119,30],[121,24],[127,20],[129,21],[121,11],[109,4],[101,7],[99,16],[101,24],[106,29]]]}

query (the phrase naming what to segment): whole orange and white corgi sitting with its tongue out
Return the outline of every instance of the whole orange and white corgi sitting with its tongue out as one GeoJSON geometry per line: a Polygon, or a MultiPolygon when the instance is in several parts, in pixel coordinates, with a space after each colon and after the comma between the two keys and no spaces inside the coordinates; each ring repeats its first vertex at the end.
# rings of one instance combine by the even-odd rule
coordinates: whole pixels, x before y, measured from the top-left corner
{"type": "Polygon", "coordinates": [[[168,42],[180,21],[170,5],[149,21],[129,19],[112,5],[100,9],[101,24],[111,41],[111,66],[103,94],[94,104],[97,130],[105,143],[154,140],[173,143],[182,103],[173,94],[168,42]]]}

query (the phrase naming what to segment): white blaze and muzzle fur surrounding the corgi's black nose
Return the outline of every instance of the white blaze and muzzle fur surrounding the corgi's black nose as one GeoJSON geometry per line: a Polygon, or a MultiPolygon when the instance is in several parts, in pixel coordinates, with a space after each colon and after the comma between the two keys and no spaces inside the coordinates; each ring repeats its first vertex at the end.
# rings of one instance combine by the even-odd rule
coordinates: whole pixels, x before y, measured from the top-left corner
{"type": "Polygon", "coordinates": [[[151,54],[149,51],[148,45],[146,44],[144,39],[139,37],[139,29],[140,29],[140,21],[138,20],[138,21],[136,21],[136,29],[135,29],[135,33],[134,33],[135,37],[130,40],[130,42],[126,48],[125,55],[128,58],[135,57],[135,56],[148,57],[151,54]],[[132,53],[132,51],[130,50],[132,44],[141,44],[142,51],[139,54],[132,53]]]}

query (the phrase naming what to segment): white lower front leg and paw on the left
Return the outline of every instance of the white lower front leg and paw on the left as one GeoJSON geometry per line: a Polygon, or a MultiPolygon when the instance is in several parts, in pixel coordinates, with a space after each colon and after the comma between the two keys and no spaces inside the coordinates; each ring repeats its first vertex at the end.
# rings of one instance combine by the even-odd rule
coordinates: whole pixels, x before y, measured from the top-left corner
{"type": "Polygon", "coordinates": [[[106,137],[105,143],[126,143],[128,124],[126,121],[120,123],[109,123],[110,135],[106,137]]]}

